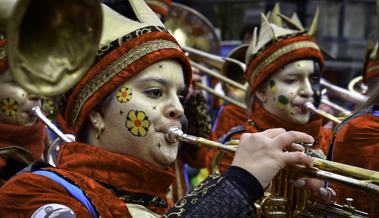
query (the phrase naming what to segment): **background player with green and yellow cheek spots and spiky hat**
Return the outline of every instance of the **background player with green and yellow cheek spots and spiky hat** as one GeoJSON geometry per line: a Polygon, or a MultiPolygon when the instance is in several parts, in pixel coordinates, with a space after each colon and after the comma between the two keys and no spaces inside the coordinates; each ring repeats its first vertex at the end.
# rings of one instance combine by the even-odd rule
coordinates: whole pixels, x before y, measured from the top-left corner
{"type": "MultiPolygon", "coordinates": [[[[284,29],[281,24],[269,23],[262,14],[259,37],[257,32],[247,49],[246,79],[249,90],[245,97],[249,119],[220,138],[219,142],[239,139],[245,132],[255,133],[271,128],[305,132],[315,138],[313,151],[326,156],[332,131],[322,128],[322,118],[304,111],[302,106],[320,102],[320,76],[324,59],[319,47],[305,32],[284,29]]],[[[210,169],[215,151],[207,157],[210,169]]],[[[233,156],[227,155],[220,171],[225,172],[233,156]]],[[[304,181],[295,183],[304,185],[304,181]]],[[[268,189],[269,187],[267,187],[268,189]]],[[[331,193],[322,191],[325,195],[331,193]]]]}

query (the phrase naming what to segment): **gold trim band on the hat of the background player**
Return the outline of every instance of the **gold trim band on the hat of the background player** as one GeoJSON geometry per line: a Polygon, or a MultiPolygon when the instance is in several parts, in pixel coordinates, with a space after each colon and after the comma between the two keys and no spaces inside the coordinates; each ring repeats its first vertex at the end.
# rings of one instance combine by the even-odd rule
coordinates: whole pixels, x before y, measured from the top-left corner
{"type": "Polygon", "coordinates": [[[253,70],[253,73],[251,74],[250,84],[254,82],[255,78],[265,67],[267,67],[269,64],[274,62],[276,59],[287,54],[288,52],[301,49],[301,48],[314,48],[314,49],[320,50],[317,44],[312,41],[300,41],[300,42],[294,42],[294,43],[288,44],[276,50],[274,53],[268,56],[264,61],[261,61],[258,64],[258,66],[253,70]]]}

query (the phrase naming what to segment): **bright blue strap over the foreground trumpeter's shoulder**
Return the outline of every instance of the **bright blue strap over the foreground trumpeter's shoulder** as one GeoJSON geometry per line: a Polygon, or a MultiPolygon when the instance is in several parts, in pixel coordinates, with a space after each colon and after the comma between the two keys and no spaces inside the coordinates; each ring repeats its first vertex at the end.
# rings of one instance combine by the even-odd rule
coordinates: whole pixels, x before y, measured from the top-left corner
{"type": "Polygon", "coordinates": [[[62,185],[72,195],[72,197],[74,197],[76,200],[80,201],[87,208],[88,212],[93,217],[97,217],[97,213],[96,213],[95,209],[92,207],[92,204],[86,198],[83,191],[80,190],[78,187],[69,183],[68,181],[59,177],[57,174],[55,174],[51,171],[37,170],[37,171],[34,171],[33,173],[41,175],[41,176],[46,176],[46,177],[54,180],[58,184],[62,185]]]}

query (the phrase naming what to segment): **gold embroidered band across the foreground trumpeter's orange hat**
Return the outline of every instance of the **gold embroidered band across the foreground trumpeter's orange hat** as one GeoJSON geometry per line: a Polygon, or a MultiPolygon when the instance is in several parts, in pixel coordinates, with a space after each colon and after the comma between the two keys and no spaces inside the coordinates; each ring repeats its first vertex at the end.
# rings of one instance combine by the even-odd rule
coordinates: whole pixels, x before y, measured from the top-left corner
{"type": "Polygon", "coordinates": [[[129,52],[123,54],[121,57],[117,58],[109,66],[107,66],[103,71],[96,75],[87,85],[83,87],[80,91],[76,101],[71,109],[68,124],[75,128],[75,123],[78,119],[79,113],[84,105],[84,103],[104,84],[111,80],[115,75],[117,75],[121,70],[128,67],[134,61],[140,59],[141,57],[162,49],[178,49],[181,51],[180,47],[172,41],[168,40],[154,40],[146,42],[142,45],[135,47],[129,52]]]}

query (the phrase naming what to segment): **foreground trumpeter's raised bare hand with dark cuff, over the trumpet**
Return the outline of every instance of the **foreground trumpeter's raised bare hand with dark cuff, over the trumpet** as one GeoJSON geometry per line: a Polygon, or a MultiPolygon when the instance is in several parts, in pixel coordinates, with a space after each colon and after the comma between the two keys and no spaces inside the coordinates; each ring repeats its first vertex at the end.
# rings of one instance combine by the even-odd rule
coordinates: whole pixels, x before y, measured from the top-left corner
{"type": "Polygon", "coordinates": [[[304,153],[283,153],[283,148],[297,142],[313,143],[313,139],[305,133],[286,132],[284,129],[243,134],[232,165],[249,171],[262,187],[266,187],[286,165],[312,164],[312,159],[304,153]]]}

